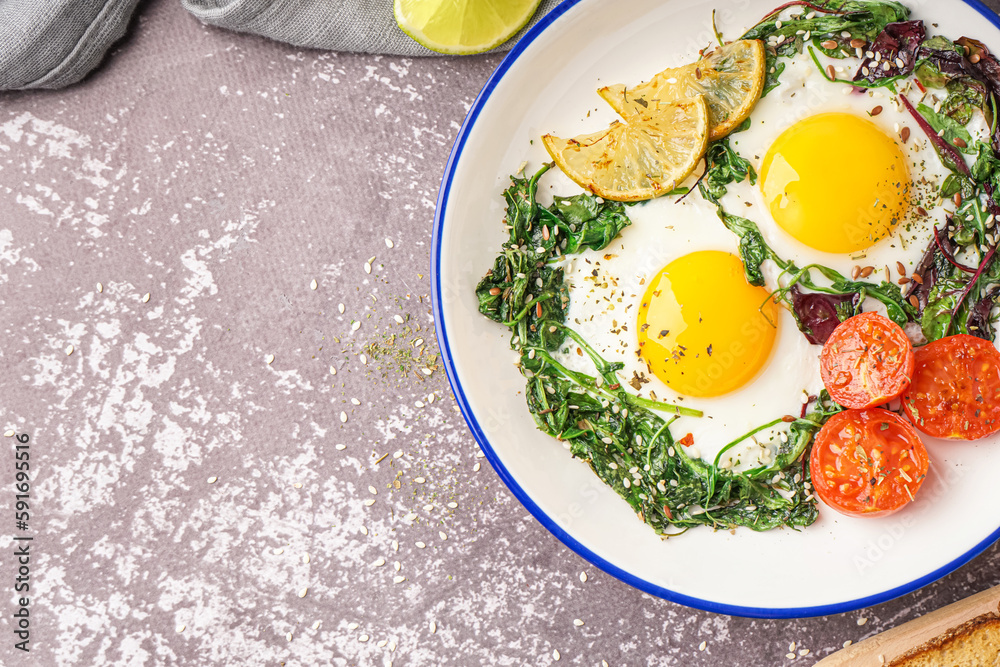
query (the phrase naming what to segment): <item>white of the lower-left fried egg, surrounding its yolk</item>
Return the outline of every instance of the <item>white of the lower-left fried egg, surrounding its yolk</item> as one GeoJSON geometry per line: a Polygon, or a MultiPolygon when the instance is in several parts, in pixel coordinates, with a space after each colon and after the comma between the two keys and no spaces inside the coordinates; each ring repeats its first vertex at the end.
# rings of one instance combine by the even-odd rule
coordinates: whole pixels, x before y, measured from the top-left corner
{"type": "MultiPolygon", "coordinates": [[[[680,203],[655,200],[629,209],[628,214],[633,224],[620,239],[602,251],[583,253],[567,262],[567,323],[604,358],[624,362],[619,375],[634,393],[703,411],[701,418],[681,417],[671,432],[678,437],[691,433],[694,451],[708,460],[751,429],[783,415],[798,415],[803,397],[823,388],[820,348],[809,344],[785,309],[779,310],[777,336],[765,368],[736,391],[716,398],[684,397],[649,373],[636,354],[635,322],[646,285],[665,265],[688,253],[722,250],[739,257],[739,251],[735,236],[719,221],[714,207],[698,196],[680,203]]],[[[774,283],[777,276],[773,270],[769,273],[774,283]]],[[[578,370],[593,372],[575,345],[562,358],[578,370]]],[[[712,363],[725,372],[731,360],[717,354],[712,363]]],[[[756,441],[730,450],[733,464],[766,463],[778,444],[775,438],[776,432],[761,433],[756,441]]]]}

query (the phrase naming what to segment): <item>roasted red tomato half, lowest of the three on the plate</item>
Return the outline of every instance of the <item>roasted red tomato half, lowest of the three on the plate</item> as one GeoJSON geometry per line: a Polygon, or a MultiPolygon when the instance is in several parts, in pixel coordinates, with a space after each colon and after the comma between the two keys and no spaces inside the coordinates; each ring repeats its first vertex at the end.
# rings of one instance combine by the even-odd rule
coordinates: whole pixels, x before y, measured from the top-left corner
{"type": "Polygon", "coordinates": [[[929,467],[913,425],[882,408],[830,417],[809,455],[816,496],[848,516],[899,511],[916,497],[929,467]]]}

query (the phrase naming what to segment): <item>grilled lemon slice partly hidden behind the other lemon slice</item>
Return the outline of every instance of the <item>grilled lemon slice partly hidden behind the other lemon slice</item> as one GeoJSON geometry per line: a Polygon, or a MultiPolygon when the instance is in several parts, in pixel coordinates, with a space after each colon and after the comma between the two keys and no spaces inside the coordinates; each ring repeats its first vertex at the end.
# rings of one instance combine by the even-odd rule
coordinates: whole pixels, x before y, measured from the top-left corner
{"type": "Polygon", "coordinates": [[[703,95],[708,104],[710,141],[721,139],[742,123],[764,89],[764,45],[756,39],[731,42],[701,60],[665,69],[632,88],[606,86],[598,94],[622,118],[657,105],[703,95]]]}

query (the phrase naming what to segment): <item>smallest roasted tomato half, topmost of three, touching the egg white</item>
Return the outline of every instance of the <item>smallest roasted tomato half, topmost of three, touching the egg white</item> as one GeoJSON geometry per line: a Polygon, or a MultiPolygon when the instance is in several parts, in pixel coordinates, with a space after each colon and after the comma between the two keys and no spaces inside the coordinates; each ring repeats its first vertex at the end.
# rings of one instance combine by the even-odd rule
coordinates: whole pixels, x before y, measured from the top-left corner
{"type": "Polygon", "coordinates": [[[878,313],[841,322],[820,354],[823,385],[847,408],[870,408],[896,398],[910,384],[913,365],[906,333],[878,313]]]}

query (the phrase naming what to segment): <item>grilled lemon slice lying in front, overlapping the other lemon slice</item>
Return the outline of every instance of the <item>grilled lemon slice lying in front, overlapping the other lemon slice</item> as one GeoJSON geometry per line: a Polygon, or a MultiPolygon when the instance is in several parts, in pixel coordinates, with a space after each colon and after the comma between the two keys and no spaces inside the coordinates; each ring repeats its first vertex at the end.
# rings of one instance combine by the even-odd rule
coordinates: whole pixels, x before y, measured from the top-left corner
{"type": "Polygon", "coordinates": [[[545,149],[582,188],[616,201],[666,194],[694,171],[708,143],[704,99],[642,108],[611,127],[572,139],[542,137],[545,149]]]}

